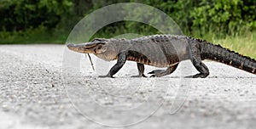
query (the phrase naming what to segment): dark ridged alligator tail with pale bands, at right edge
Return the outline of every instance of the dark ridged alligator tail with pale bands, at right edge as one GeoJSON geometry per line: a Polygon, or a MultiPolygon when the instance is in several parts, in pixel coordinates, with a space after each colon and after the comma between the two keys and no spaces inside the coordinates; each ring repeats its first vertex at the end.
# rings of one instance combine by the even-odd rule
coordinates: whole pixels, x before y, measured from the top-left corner
{"type": "Polygon", "coordinates": [[[203,42],[203,44],[201,44],[201,56],[202,59],[218,61],[256,75],[255,59],[230,51],[230,49],[223,48],[220,45],[203,42]]]}

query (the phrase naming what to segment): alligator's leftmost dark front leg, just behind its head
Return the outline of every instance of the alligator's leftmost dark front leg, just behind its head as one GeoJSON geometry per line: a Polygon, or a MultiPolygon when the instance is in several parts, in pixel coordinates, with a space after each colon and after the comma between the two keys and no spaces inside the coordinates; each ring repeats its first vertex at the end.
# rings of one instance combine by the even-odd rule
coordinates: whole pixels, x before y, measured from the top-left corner
{"type": "Polygon", "coordinates": [[[116,74],[125,64],[127,59],[126,53],[119,53],[117,63],[113,65],[113,67],[109,70],[108,75],[106,76],[99,76],[99,77],[112,77],[116,74]]]}

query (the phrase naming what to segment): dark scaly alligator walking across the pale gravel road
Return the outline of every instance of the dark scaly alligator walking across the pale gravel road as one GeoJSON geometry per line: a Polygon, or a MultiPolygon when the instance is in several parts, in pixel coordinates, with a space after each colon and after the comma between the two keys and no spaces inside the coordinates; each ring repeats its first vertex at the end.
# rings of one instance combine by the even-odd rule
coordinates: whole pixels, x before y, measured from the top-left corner
{"type": "Polygon", "coordinates": [[[95,38],[91,42],[82,44],[68,43],[67,48],[79,53],[93,53],[96,57],[106,61],[116,60],[117,63],[106,76],[113,77],[126,60],[137,62],[138,75],[132,77],[146,77],[144,64],[155,67],[167,67],[166,70],[153,70],[148,74],[155,77],[172,74],[179,62],[190,59],[195,69],[199,71],[192,78],[204,78],[209,75],[204,59],[218,61],[235,68],[256,74],[256,61],[240,53],[214,45],[201,39],[177,35],[142,36],[131,40],[95,38]]]}

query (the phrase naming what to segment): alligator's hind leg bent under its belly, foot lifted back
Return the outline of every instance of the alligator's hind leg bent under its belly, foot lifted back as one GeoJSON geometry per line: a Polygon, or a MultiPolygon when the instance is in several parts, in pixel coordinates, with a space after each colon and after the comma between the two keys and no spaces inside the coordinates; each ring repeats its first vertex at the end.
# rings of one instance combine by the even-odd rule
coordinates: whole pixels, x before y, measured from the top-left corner
{"type": "Polygon", "coordinates": [[[176,69],[177,69],[177,64],[174,64],[174,65],[168,67],[166,70],[152,70],[152,71],[148,72],[148,74],[153,74],[150,77],[167,76],[167,75],[172,74],[172,72],[176,69]]]}

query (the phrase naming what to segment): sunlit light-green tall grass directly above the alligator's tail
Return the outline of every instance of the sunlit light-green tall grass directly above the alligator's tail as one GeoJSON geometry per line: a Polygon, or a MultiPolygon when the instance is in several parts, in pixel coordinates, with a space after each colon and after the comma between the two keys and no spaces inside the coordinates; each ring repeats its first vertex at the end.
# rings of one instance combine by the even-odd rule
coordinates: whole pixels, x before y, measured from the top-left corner
{"type": "Polygon", "coordinates": [[[216,29],[214,26],[209,26],[209,28],[210,30],[208,31],[202,29],[191,32],[189,36],[201,38],[213,44],[219,44],[224,48],[229,48],[237,53],[256,59],[256,30],[240,27],[239,31],[231,29],[228,32],[229,34],[226,34],[222,29],[213,30],[214,28],[216,29]]]}

